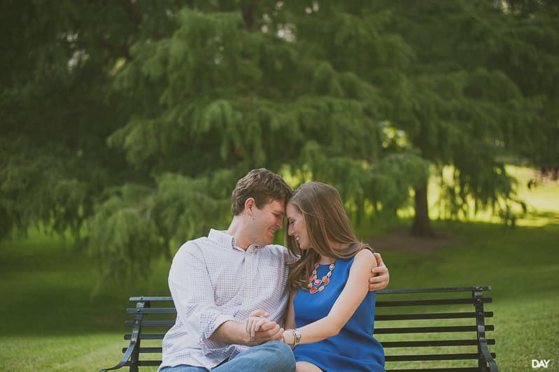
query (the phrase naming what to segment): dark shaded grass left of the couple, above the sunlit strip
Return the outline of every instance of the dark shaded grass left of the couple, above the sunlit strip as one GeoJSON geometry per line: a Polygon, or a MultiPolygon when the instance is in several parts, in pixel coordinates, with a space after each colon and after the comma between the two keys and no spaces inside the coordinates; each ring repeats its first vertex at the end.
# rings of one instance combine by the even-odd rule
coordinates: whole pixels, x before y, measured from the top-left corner
{"type": "Polygon", "coordinates": [[[92,298],[99,271],[86,252],[76,251],[59,238],[4,241],[0,244],[0,334],[124,333],[129,296],[169,295],[169,266],[156,266],[152,278],[139,276],[127,285],[107,283],[92,298]]]}

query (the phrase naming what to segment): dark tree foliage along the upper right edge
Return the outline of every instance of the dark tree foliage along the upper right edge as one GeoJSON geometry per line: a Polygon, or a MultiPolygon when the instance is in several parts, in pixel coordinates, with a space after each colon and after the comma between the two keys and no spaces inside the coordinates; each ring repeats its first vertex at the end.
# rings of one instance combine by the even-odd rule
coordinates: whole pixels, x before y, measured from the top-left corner
{"type": "Polygon", "coordinates": [[[522,94],[539,103],[525,136],[507,138],[523,159],[546,176],[559,177],[559,3],[502,0],[507,18],[493,63],[522,94]]]}

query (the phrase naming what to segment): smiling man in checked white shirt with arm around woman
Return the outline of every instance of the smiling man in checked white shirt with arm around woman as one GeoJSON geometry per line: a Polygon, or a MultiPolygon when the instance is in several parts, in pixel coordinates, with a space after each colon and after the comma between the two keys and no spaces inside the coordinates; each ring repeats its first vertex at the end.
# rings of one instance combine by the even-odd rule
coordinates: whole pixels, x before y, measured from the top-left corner
{"type": "MultiPolygon", "coordinates": [[[[271,244],[283,228],[290,194],[280,176],[253,169],[233,191],[229,229],[211,229],[178,250],[169,271],[177,317],[163,339],[160,371],[295,371],[281,322],[288,301],[286,264],[297,257],[271,244]],[[254,336],[244,325],[251,315],[269,317],[254,336]]],[[[377,261],[371,290],[388,285],[380,255],[377,261]]]]}

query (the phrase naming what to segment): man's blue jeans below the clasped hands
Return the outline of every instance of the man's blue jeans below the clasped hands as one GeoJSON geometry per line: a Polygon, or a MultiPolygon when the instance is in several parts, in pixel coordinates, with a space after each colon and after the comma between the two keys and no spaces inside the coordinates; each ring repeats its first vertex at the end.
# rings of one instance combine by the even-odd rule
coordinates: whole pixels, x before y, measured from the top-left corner
{"type": "MultiPolygon", "coordinates": [[[[161,372],[207,372],[204,367],[165,367],[161,372]]],[[[215,372],[294,372],[295,357],[288,345],[281,341],[268,341],[241,352],[233,359],[216,366],[215,372]]]]}

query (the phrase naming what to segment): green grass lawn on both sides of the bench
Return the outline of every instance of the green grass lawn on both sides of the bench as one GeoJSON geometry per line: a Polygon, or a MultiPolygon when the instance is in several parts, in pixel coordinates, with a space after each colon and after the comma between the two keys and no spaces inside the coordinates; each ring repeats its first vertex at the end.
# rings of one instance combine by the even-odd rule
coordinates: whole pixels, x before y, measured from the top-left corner
{"type": "MultiPolygon", "coordinates": [[[[520,178],[529,170],[514,169],[520,178]]],[[[559,371],[559,186],[519,184],[530,215],[514,229],[487,220],[434,221],[461,245],[435,252],[381,252],[390,288],[491,285],[501,371],[532,370],[554,359],[559,371]]],[[[61,238],[34,234],[0,243],[0,370],[96,371],[120,356],[127,298],[167,295],[169,263],[151,278],[106,286],[90,296],[97,269],[87,252],[61,238]]]]}

